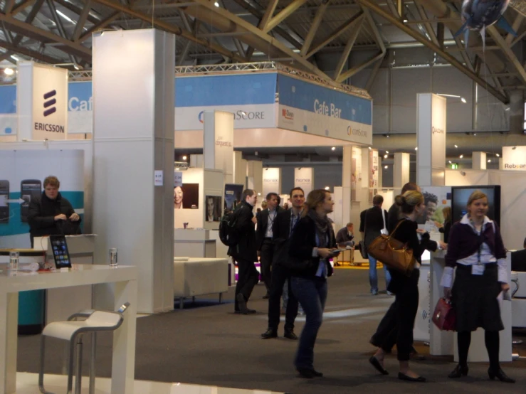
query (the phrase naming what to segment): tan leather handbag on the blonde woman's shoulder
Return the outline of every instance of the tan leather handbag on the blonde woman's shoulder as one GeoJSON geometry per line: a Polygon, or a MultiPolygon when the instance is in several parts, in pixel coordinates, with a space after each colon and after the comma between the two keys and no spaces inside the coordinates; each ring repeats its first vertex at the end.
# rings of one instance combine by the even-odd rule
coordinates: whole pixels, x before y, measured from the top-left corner
{"type": "Polygon", "coordinates": [[[382,234],[374,238],[369,247],[367,247],[367,253],[379,260],[379,262],[383,262],[390,269],[399,271],[409,277],[414,268],[413,250],[408,249],[406,244],[392,237],[400,224],[401,221],[390,235],[382,234]]]}

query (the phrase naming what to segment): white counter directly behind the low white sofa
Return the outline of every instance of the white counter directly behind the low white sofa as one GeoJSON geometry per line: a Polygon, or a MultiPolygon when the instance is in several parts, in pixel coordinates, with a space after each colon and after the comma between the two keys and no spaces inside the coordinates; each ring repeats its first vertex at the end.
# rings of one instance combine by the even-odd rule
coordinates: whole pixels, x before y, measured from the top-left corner
{"type": "Polygon", "coordinates": [[[216,240],[210,237],[211,230],[174,229],[174,256],[216,257],[216,240]]]}

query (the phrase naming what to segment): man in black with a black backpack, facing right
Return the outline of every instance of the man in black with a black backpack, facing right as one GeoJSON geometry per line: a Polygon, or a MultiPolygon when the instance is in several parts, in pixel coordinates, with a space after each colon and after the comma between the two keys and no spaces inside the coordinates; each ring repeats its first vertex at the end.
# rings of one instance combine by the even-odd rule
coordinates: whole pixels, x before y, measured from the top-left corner
{"type": "Polygon", "coordinates": [[[251,189],[243,191],[241,204],[236,208],[236,233],[239,241],[228,248],[228,255],[232,256],[238,265],[234,312],[242,314],[256,313],[255,310],[248,309],[246,303],[251,297],[254,286],[259,282],[259,272],[254,265],[258,260],[256,230],[254,230],[256,217],[252,213],[257,201],[256,191],[251,189]]]}

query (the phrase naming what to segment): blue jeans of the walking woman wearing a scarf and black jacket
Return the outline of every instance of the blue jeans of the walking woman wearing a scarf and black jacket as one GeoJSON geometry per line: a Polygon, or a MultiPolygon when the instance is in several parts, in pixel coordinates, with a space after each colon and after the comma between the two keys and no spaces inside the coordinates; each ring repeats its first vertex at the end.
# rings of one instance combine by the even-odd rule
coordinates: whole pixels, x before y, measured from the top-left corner
{"type": "Polygon", "coordinates": [[[294,365],[298,369],[314,369],[314,344],[327,301],[327,280],[292,277],[290,281],[291,289],[305,311],[305,326],[301,331],[294,365]]]}

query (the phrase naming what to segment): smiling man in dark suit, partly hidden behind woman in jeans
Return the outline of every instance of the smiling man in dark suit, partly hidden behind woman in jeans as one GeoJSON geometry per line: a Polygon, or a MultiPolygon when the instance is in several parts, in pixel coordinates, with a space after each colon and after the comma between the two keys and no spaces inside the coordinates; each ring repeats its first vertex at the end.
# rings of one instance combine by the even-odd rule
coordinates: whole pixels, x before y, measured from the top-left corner
{"type": "MultiPolygon", "coordinates": [[[[270,339],[278,336],[278,325],[280,324],[280,298],[283,294],[283,285],[290,279],[289,270],[283,266],[283,253],[278,254],[278,249],[288,251],[288,242],[295,224],[300,219],[305,203],[305,193],[302,188],[293,188],[290,191],[292,208],[280,211],[273,223],[273,241],[275,243],[275,258],[272,266],[272,284],[270,285],[270,297],[268,299],[268,329],[261,338],[270,339]],[[283,249],[285,248],[285,249],[283,249]]],[[[288,257],[288,252],[286,253],[288,257]]],[[[287,302],[287,312],[285,314],[285,332],[283,336],[288,339],[297,340],[294,334],[294,320],[298,315],[298,299],[290,291],[290,281],[288,282],[289,296],[287,302]]]]}

